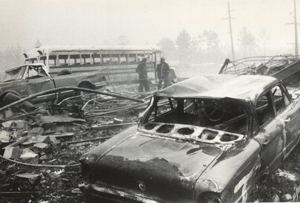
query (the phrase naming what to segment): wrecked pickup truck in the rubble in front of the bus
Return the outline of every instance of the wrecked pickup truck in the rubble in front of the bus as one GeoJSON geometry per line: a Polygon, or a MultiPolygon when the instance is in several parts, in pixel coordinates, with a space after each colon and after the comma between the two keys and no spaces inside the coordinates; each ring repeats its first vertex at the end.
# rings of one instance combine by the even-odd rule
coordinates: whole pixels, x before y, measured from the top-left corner
{"type": "MultiPolygon", "coordinates": [[[[98,72],[50,76],[44,64],[32,63],[14,67],[0,74],[0,101],[2,101],[3,105],[7,102],[10,103],[17,99],[58,87],[98,89],[105,85],[105,77],[98,72]]],[[[62,98],[70,97],[74,93],[73,90],[65,91],[60,96],[62,98]]],[[[47,94],[34,98],[30,102],[53,101],[56,97],[56,93],[47,94]]]]}

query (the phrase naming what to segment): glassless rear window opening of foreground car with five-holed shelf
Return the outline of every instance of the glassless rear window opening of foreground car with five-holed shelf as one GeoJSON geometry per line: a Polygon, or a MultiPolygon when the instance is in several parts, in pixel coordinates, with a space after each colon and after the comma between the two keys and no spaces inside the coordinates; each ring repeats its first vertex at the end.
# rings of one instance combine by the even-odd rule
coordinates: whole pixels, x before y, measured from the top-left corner
{"type": "Polygon", "coordinates": [[[245,136],[246,108],[237,100],[156,97],[154,102],[141,126],[145,132],[192,135],[208,143],[240,141],[245,136]],[[200,133],[201,127],[207,129],[200,133]],[[226,133],[219,134],[221,131],[226,133]]]}

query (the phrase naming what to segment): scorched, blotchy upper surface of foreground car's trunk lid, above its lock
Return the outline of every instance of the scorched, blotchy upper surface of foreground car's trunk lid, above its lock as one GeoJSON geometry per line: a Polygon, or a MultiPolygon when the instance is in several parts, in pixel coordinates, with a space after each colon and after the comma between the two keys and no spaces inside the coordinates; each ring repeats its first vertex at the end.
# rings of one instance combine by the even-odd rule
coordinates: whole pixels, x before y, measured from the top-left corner
{"type": "Polygon", "coordinates": [[[217,146],[136,134],[114,146],[96,165],[113,176],[193,190],[221,151],[217,146]]]}

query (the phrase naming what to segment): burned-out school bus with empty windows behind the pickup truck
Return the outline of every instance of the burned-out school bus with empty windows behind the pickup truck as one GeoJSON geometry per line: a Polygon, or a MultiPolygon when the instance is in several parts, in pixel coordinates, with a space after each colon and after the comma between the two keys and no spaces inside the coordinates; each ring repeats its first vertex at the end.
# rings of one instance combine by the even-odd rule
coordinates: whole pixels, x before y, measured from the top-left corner
{"type": "Polygon", "coordinates": [[[101,71],[113,83],[138,81],[136,67],[147,58],[149,79],[156,79],[161,56],[152,46],[41,46],[24,55],[24,64],[44,63],[51,75],[101,71]]]}

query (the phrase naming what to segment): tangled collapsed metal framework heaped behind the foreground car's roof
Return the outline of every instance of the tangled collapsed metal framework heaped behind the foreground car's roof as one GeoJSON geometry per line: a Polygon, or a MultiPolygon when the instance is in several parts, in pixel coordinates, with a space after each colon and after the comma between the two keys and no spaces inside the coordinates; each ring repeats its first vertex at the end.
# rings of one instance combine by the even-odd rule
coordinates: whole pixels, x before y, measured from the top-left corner
{"type": "Polygon", "coordinates": [[[232,62],[226,60],[219,74],[267,75],[291,82],[299,79],[300,56],[247,57],[232,62]]]}

